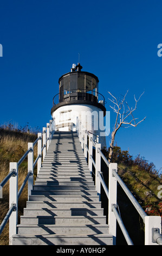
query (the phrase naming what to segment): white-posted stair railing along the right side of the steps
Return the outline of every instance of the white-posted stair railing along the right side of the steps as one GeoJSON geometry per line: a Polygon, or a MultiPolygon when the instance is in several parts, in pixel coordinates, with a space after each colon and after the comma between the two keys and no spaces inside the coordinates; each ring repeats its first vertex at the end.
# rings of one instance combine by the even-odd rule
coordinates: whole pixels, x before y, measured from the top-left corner
{"type": "Polygon", "coordinates": [[[125,228],[124,223],[117,210],[117,182],[122,187],[126,193],[129,200],[131,200],[135,209],[138,211],[142,220],[145,224],[145,245],[162,245],[162,235],[161,235],[161,217],[160,216],[147,216],[146,212],[141,208],[140,204],[134,198],[131,191],[128,190],[124,181],[120,178],[117,173],[118,165],[117,163],[109,163],[106,157],[101,151],[101,144],[99,143],[99,138],[93,139],[93,134],[88,132],[81,124],[81,121],[77,119],[76,131],[79,137],[81,147],[85,154],[88,162],[90,173],[92,173],[93,168],[95,168],[95,186],[98,192],[99,198],[101,196],[101,185],[108,198],[108,224],[109,233],[113,235],[113,244],[116,244],[116,221],[118,221],[119,227],[121,228],[122,234],[124,235],[128,245],[133,245],[131,238],[125,228]],[[89,138],[89,139],[88,139],[89,138]],[[88,143],[87,143],[88,141],[88,143]],[[93,148],[95,149],[95,161],[93,159],[93,148]],[[88,158],[87,158],[88,153],[88,158]],[[109,169],[109,179],[108,188],[105,181],[102,178],[101,172],[101,158],[106,163],[109,169]]]}

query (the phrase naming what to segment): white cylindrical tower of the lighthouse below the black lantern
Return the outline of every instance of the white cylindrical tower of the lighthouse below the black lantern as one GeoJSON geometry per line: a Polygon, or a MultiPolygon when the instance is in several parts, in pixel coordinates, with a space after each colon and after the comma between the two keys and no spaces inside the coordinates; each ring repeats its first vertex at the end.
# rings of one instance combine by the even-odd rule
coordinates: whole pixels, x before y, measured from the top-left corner
{"type": "Polygon", "coordinates": [[[77,118],[81,121],[84,129],[93,134],[94,139],[99,136],[101,147],[106,147],[106,137],[103,136],[103,111],[93,105],[70,104],[64,105],[53,112],[57,131],[76,131],[77,118]]]}

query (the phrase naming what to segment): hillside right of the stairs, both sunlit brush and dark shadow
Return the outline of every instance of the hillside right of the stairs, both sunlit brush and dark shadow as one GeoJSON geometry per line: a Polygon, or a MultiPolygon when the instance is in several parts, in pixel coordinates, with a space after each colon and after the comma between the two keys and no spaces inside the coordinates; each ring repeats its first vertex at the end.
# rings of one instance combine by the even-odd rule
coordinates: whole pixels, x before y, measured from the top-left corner
{"type": "MultiPolygon", "coordinates": [[[[107,159],[108,153],[109,150],[103,150],[103,154],[107,159]]],[[[120,147],[114,148],[113,162],[118,163],[118,174],[132,192],[133,196],[138,200],[146,214],[162,216],[162,203],[160,198],[162,196],[162,175],[155,169],[154,164],[152,162],[148,163],[148,161],[140,155],[133,159],[133,156],[129,155],[128,151],[122,151],[120,147]]],[[[108,170],[103,162],[102,171],[105,182],[108,184],[108,170]]],[[[117,201],[121,218],[133,243],[135,245],[144,244],[144,223],[120,186],[118,186],[117,201]]],[[[106,202],[104,196],[103,202],[106,202]]],[[[120,228],[118,229],[118,233],[118,244],[125,243],[120,228]]]]}

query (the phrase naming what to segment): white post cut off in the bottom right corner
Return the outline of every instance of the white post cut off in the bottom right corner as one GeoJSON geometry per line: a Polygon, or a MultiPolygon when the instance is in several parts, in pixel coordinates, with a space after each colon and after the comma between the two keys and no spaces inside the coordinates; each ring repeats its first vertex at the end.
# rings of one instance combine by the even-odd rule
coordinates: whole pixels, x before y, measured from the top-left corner
{"type": "Polygon", "coordinates": [[[158,245],[153,241],[153,229],[161,234],[161,216],[145,216],[145,245],[158,245]]]}

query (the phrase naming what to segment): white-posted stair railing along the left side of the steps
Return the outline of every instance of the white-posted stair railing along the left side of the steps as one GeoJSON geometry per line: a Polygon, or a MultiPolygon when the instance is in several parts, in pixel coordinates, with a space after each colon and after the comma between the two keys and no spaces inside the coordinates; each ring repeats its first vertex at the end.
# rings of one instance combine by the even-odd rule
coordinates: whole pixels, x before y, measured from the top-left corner
{"type": "Polygon", "coordinates": [[[33,143],[28,143],[28,150],[21,157],[18,162],[10,162],[9,174],[3,179],[0,184],[1,193],[2,188],[9,181],[9,210],[5,215],[3,222],[0,225],[0,235],[9,220],[9,245],[12,245],[12,236],[17,233],[17,217],[18,217],[18,199],[28,182],[28,200],[33,190],[34,184],[34,167],[37,164],[37,175],[42,166],[42,160],[47,153],[51,138],[55,131],[54,119],[47,123],[47,127],[43,127],[42,133],[37,133],[38,138],[33,143]],[[37,144],[37,158],[34,161],[34,146],[37,144]],[[43,147],[42,147],[43,145],[43,147]],[[18,167],[28,156],[28,174],[23,181],[23,184],[18,191],[18,167]]]}

